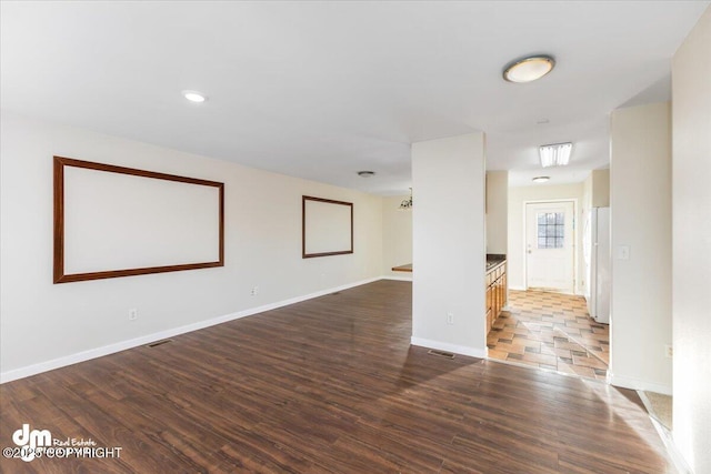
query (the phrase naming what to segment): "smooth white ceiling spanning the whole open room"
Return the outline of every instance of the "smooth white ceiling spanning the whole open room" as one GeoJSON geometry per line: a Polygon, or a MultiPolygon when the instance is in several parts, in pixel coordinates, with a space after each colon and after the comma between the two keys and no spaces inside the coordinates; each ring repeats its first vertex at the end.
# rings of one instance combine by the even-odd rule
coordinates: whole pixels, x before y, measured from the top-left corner
{"type": "MultiPolygon", "coordinates": [[[[1,3],[1,105],[20,114],[379,194],[410,144],[487,133],[488,169],[551,184],[609,163],[611,110],[669,98],[709,1],[1,3]],[[513,84],[529,53],[558,65],[513,84]],[[188,103],[184,89],[209,95],[188,103]],[[539,123],[545,121],[545,123],[539,123]],[[359,178],[373,170],[374,178],[359,178]]],[[[77,157],[91,160],[92,157],[77,157]]]]}

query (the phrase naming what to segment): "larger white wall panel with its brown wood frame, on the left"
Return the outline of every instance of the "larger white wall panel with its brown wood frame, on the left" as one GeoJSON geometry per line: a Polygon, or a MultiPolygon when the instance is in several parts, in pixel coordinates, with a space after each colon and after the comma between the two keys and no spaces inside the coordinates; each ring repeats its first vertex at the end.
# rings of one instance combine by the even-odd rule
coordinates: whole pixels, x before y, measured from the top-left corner
{"type": "Polygon", "coordinates": [[[223,183],[54,157],[54,283],[223,265],[223,183]]]}

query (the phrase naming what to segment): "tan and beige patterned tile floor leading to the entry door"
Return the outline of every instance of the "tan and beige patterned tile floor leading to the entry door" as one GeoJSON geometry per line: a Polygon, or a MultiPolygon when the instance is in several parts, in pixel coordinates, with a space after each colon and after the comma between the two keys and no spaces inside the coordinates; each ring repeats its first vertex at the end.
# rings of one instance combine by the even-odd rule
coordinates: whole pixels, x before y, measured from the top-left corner
{"type": "Polygon", "coordinates": [[[609,326],[588,315],[584,297],[511,290],[507,307],[487,337],[490,359],[607,377],[609,326]]]}

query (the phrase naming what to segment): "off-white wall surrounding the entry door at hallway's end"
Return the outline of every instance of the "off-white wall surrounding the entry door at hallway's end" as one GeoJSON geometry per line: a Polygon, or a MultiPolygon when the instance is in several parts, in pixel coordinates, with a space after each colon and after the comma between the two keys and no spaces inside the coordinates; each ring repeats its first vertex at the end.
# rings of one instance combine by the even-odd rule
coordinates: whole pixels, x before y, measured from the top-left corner
{"type": "Polygon", "coordinates": [[[582,256],[582,223],[580,214],[583,200],[583,183],[551,184],[509,188],[509,253],[508,278],[511,290],[525,290],[525,202],[570,200],[575,205],[575,293],[582,294],[584,261],[582,256]]]}

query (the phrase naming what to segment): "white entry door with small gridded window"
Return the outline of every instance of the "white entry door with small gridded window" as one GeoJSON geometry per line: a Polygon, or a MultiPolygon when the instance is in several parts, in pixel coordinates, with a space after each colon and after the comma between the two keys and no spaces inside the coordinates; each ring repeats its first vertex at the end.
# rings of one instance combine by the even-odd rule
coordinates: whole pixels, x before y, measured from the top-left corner
{"type": "Polygon", "coordinates": [[[572,201],[525,205],[525,279],[531,290],[574,291],[572,201]]]}

